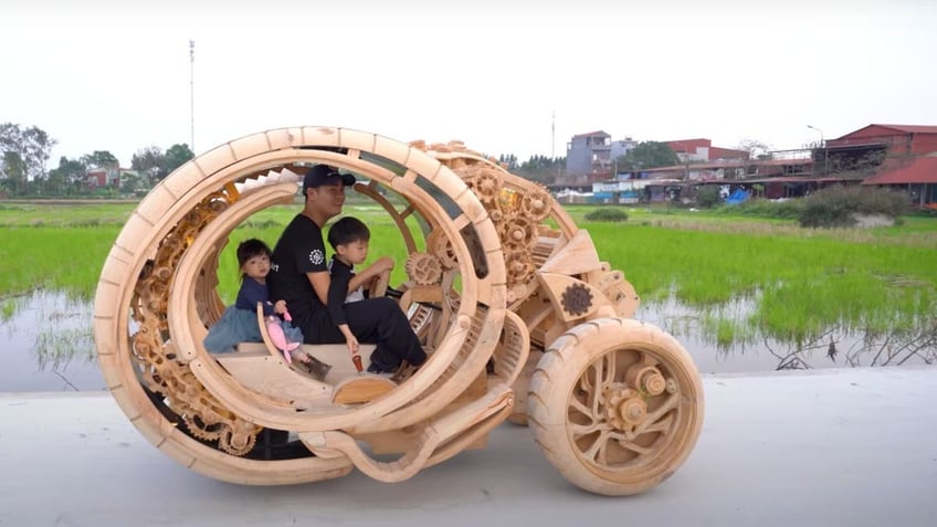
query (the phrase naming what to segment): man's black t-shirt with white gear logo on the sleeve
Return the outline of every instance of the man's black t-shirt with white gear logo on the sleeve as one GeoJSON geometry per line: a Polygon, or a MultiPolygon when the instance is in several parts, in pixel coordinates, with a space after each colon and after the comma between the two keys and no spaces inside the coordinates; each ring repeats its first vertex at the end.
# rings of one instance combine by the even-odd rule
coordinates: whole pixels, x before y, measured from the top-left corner
{"type": "Polygon", "coordinates": [[[304,327],[312,319],[328,317],[306,273],[327,273],[322,229],[304,214],[297,214],[283,230],[273,249],[266,277],[270,299],[286,301],[289,315],[304,327]]]}

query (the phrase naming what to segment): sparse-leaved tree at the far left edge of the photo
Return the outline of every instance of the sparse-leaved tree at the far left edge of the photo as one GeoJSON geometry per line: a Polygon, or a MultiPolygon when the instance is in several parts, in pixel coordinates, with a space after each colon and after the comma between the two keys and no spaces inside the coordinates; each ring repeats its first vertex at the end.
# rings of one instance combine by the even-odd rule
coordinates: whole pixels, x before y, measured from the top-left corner
{"type": "Polygon", "coordinates": [[[0,154],[3,159],[0,176],[14,191],[24,189],[27,181],[43,179],[45,161],[56,143],[35,126],[21,128],[14,123],[0,124],[0,154]]]}

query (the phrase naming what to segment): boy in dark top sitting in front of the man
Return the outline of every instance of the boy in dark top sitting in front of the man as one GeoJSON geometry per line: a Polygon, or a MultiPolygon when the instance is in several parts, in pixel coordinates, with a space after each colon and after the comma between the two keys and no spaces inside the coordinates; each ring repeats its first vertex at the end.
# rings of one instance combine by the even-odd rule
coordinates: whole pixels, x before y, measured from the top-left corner
{"type": "MultiPolygon", "coordinates": [[[[335,250],[329,262],[329,275],[331,281],[328,286],[328,313],[331,320],[345,336],[348,351],[351,352],[355,366],[360,371],[358,358],[358,339],[348,327],[345,317],[345,304],[359,302],[367,298],[365,292],[366,283],[376,280],[385,271],[393,268],[393,260],[381,256],[359,274],[355,273],[355,265],[360,265],[368,257],[368,241],[371,233],[361,220],[345,217],[328,230],[328,243],[335,250]],[[356,284],[352,288],[351,283],[356,284]]],[[[398,361],[399,362],[399,361],[398,361]]],[[[385,372],[371,356],[370,373],[385,372]]]]}

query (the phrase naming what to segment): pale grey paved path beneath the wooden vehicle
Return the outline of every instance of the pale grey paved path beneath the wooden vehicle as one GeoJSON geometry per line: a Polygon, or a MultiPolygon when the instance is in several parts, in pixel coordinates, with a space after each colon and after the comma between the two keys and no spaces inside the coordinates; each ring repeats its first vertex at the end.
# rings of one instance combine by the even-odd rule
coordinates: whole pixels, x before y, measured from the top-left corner
{"type": "Polygon", "coordinates": [[[0,393],[0,526],[935,526],[937,368],[706,376],[686,464],[578,491],[524,428],[410,481],[245,487],[187,471],[106,393],[0,393]]]}

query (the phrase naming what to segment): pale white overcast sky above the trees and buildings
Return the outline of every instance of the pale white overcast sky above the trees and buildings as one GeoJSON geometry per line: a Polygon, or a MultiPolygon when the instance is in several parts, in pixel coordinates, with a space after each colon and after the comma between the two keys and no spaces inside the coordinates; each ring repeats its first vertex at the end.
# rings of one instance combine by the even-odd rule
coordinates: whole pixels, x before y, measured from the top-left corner
{"type": "Polygon", "coordinates": [[[786,149],[937,125],[937,0],[3,0],[0,56],[0,123],[55,138],[48,168],[129,166],[193,116],[196,154],[326,125],[522,160],[593,130],[786,149]]]}

